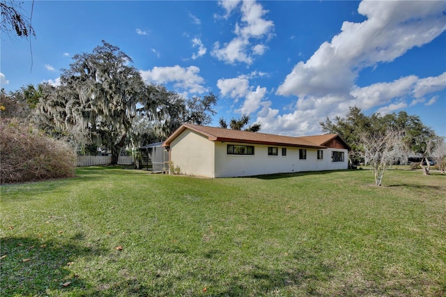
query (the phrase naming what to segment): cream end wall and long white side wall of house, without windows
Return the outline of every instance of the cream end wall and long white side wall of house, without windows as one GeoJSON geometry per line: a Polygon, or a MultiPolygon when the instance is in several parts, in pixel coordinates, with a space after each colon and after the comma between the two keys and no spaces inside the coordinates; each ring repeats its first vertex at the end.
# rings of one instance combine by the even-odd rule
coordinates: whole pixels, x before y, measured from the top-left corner
{"type": "Polygon", "coordinates": [[[274,147],[277,147],[278,155],[268,155],[268,145],[212,142],[208,137],[186,129],[171,142],[170,155],[174,165],[180,168],[180,174],[210,178],[348,168],[348,150],[345,148],[322,149],[323,160],[317,160],[316,148],[305,148],[307,158],[300,160],[299,148],[274,147]],[[228,144],[254,146],[254,155],[228,155],[228,144]],[[286,148],[285,156],[282,156],[282,148],[286,148]],[[332,151],[344,152],[344,162],[332,162],[332,151]]]}

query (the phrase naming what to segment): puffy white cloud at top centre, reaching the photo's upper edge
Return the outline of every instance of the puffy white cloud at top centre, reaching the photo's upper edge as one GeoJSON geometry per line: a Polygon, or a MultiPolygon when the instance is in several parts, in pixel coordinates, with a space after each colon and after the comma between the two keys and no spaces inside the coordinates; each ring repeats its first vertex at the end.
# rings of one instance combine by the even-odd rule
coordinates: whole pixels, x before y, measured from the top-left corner
{"type": "MultiPolygon", "coordinates": [[[[240,1],[220,1],[219,3],[226,10],[227,17],[238,7],[240,1]]],[[[250,40],[263,38],[270,40],[274,24],[272,21],[263,19],[268,11],[263,10],[261,4],[256,1],[243,0],[240,13],[242,14],[241,23],[236,23],[234,29],[236,37],[229,43],[224,43],[222,47],[220,47],[220,42],[215,42],[211,54],[224,63],[242,62],[250,65],[253,62],[253,55],[262,55],[267,49],[266,45],[260,43],[250,45],[250,40]]]]}

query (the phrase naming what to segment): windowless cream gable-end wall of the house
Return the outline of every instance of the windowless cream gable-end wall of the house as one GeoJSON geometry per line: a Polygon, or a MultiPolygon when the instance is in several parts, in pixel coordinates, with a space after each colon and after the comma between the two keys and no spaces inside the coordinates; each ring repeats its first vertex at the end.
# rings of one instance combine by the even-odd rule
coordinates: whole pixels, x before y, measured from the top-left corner
{"type": "Polygon", "coordinates": [[[170,144],[170,158],[180,174],[215,177],[214,142],[186,129],[170,144]]]}

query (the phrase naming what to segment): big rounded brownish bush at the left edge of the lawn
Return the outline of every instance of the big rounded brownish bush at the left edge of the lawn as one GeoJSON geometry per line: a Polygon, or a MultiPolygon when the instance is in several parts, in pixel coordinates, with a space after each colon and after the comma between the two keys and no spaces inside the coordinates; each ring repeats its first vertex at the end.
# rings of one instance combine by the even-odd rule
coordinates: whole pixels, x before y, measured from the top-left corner
{"type": "Polygon", "coordinates": [[[76,155],[66,142],[17,119],[0,123],[0,183],[74,176],[76,155]]]}

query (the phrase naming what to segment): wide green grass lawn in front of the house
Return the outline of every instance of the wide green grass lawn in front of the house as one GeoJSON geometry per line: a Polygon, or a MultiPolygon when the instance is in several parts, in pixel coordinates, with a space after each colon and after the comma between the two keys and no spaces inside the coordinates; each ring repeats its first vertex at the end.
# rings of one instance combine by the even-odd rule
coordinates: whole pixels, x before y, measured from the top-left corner
{"type": "Polygon", "coordinates": [[[0,295],[445,296],[445,181],[85,167],[2,185],[0,295]]]}

